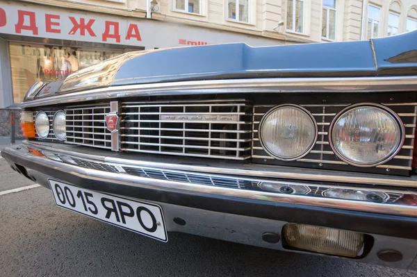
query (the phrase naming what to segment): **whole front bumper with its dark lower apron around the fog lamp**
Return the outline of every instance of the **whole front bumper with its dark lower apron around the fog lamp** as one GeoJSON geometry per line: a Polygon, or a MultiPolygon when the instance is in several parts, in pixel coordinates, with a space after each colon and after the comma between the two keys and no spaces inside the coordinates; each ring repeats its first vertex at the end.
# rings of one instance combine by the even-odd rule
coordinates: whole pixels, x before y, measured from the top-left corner
{"type": "MultiPolygon", "coordinates": [[[[341,187],[342,181],[345,187],[354,187],[353,183],[357,182],[363,184],[366,190],[377,190],[369,186],[375,184],[379,185],[379,190],[404,193],[411,193],[410,188],[404,187],[417,186],[415,178],[241,165],[224,161],[197,164],[201,162],[199,159],[164,158],[161,162],[161,157],[131,156],[39,142],[24,142],[3,149],[1,154],[17,171],[45,187],[49,187],[47,179],[52,177],[90,190],[158,203],[163,208],[169,231],[293,251],[284,249],[281,243],[263,241],[262,234],[281,234],[281,228],[287,222],[341,228],[372,235],[373,248],[360,261],[417,269],[417,261],[413,265],[417,255],[416,206],[282,194],[251,187],[221,187],[215,182],[193,182],[195,177],[187,176],[201,176],[212,181],[216,178],[295,184],[304,181],[303,185],[333,181],[334,187],[341,187]],[[90,164],[83,167],[73,165],[68,162],[69,159],[90,164]],[[86,168],[97,165],[100,166],[95,169],[86,168]],[[158,176],[162,174],[167,178],[133,176],[124,170],[126,168],[159,172],[158,176]],[[186,176],[189,182],[172,181],[170,176],[174,175],[170,174],[181,178],[186,176]],[[380,188],[387,184],[390,187],[380,188]],[[187,224],[175,224],[175,217],[181,217],[187,224]],[[383,249],[401,251],[403,259],[400,262],[379,260],[377,253],[383,249]]],[[[325,184],[332,186],[332,183],[325,184]]]]}

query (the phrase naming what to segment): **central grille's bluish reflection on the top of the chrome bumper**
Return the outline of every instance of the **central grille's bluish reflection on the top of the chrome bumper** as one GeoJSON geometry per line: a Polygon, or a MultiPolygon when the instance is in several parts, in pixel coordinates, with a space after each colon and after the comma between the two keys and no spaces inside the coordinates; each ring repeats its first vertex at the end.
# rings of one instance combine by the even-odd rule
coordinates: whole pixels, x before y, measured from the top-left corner
{"type": "Polygon", "coordinates": [[[223,178],[219,176],[189,174],[182,171],[163,171],[159,169],[147,169],[138,167],[123,167],[127,174],[145,178],[161,179],[198,185],[214,185],[216,187],[231,187],[248,189],[252,187],[252,181],[237,178],[223,178]]]}

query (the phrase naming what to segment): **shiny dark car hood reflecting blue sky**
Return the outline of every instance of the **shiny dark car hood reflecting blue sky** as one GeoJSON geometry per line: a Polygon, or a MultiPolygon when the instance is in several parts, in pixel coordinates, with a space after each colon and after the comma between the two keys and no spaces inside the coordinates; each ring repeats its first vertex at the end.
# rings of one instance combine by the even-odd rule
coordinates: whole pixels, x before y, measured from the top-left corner
{"type": "Polygon", "coordinates": [[[95,87],[231,78],[417,75],[417,31],[355,42],[244,43],[137,51],[42,87],[38,97],[95,87]]]}

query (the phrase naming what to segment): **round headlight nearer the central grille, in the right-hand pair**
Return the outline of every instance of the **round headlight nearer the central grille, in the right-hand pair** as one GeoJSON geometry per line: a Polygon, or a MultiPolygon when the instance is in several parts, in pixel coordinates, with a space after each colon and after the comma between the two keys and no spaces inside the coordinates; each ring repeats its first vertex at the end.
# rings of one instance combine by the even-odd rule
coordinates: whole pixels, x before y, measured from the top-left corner
{"type": "Polygon", "coordinates": [[[297,160],[305,156],[317,139],[316,121],[295,105],[282,105],[267,112],[259,124],[259,140],[270,156],[297,160]]]}

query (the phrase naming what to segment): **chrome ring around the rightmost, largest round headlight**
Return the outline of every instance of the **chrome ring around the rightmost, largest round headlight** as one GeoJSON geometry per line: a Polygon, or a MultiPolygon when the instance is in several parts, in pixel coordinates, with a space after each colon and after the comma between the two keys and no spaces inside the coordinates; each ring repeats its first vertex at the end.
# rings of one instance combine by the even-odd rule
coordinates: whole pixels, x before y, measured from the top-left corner
{"type": "Polygon", "coordinates": [[[384,105],[381,105],[381,104],[377,104],[377,103],[357,103],[357,104],[354,104],[354,105],[347,106],[346,108],[344,108],[343,110],[338,112],[338,114],[334,117],[334,119],[332,120],[332,123],[329,126],[329,144],[332,147],[333,152],[335,153],[335,155],[338,158],[343,160],[343,162],[346,162],[348,165],[354,165],[355,167],[376,167],[377,165],[382,165],[385,162],[388,162],[389,160],[394,158],[398,154],[398,152],[400,152],[400,150],[402,149],[402,145],[404,144],[404,140],[405,140],[405,128],[404,128],[404,124],[402,123],[401,118],[397,115],[396,112],[394,112],[390,108],[388,108],[384,105]],[[393,117],[394,121],[398,124],[398,128],[400,130],[400,142],[396,146],[395,151],[393,151],[393,153],[391,153],[391,155],[389,155],[387,158],[384,158],[383,160],[378,160],[377,162],[373,162],[373,163],[370,163],[370,162],[352,162],[352,161],[348,160],[347,158],[344,158],[341,155],[341,153],[338,152],[338,149],[336,148],[336,146],[334,146],[334,143],[333,143],[333,128],[334,128],[334,125],[336,124],[338,119],[340,119],[340,117],[345,115],[346,112],[349,112],[350,110],[353,110],[354,108],[358,108],[358,107],[361,107],[361,108],[362,107],[363,108],[370,107],[370,108],[376,108],[378,110],[382,110],[383,112],[386,112],[389,115],[391,115],[391,117],[393,117]]]}

